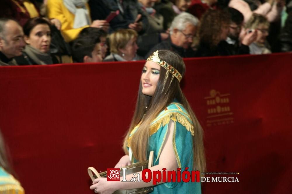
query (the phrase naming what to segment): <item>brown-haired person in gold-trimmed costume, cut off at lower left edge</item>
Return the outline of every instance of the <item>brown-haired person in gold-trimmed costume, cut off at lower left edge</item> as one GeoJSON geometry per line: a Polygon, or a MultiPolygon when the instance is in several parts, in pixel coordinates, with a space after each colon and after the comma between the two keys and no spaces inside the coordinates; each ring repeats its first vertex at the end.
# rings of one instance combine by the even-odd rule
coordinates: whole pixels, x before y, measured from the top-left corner
{"type": "Polygon", "coordinates": [[[8,161],[4,138],[0,131],[0,193],[24,194],[24,189],[12,174],[14,172],[8,161]]]}

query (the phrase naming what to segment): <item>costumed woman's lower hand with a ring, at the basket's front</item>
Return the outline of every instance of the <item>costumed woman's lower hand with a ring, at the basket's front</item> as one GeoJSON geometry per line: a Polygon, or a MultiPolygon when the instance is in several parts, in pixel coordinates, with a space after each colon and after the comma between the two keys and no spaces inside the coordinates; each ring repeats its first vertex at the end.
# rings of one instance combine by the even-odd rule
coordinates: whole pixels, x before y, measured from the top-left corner
{"type": "Polygon", "coordinates": [[[94,190],[95,193],[100,194],[112,194],[115,191],[119,190],[117,188],[117,182],[107,181],[107,178],[95,179],[92,185],[90,186],[90,189],[94,190]]]}

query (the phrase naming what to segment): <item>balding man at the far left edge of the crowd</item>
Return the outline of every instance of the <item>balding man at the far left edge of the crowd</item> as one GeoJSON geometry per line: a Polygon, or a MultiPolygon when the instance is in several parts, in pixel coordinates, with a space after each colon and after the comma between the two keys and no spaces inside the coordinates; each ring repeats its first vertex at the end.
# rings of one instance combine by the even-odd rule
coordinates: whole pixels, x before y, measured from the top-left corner
{"type": "Polygon", "coordinates": [[[0,66],[17,65],[13,57],[25,47],[22,27],[14,20],[0,18],[0,66]]]}

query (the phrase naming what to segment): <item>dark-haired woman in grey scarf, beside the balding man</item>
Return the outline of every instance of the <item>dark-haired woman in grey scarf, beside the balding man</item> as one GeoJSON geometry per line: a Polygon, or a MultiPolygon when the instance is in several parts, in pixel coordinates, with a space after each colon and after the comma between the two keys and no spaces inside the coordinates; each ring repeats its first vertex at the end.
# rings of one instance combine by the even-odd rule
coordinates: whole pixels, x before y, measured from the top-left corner
{"type": "Polygon", "coordinates": [[[18,65],[48,65],[59,61],[50,54],[51,24],[42,17],[29,19],[23,27],[27,44],[20,57],[15,57],[18,65]]]}

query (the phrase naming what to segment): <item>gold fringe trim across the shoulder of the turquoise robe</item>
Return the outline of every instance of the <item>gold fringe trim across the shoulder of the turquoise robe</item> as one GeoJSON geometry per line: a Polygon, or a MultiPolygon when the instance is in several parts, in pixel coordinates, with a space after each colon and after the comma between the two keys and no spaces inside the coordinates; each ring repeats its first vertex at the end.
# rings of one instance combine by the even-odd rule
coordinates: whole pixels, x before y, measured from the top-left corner
{"type": "Polygon", "coordinates": [[[188,131],[191,132],[192,136],[194,136],[194,126],[192,125],[192,123],[190,123],[187,117],[178,112],[170,112],[161,119],[155,121],[155,123],[150,126],[150,135],[156,133],[160,127],[164,127],[166,124],[169,123],[170,120],[180,123],[188,131]]]}

